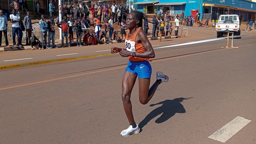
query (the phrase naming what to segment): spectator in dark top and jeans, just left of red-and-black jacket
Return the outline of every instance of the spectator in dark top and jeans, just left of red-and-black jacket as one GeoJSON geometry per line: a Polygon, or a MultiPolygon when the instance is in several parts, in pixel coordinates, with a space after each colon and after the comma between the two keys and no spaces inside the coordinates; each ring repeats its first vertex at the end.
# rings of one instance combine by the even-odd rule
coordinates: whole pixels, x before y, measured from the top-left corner
{"type": "Polygon", "coordinates": [[[48,25],[48,47],[49,49],[51,48],[58,48],[56,47],[56,44],[54,43],[55,42],[55,22],[54,22],[54,17],[53,16],[50,16],[50,20],[47,22],[47,25],[48,25]],[[51,47],[51,40],[52,40],[52,47],[51,47]]]}

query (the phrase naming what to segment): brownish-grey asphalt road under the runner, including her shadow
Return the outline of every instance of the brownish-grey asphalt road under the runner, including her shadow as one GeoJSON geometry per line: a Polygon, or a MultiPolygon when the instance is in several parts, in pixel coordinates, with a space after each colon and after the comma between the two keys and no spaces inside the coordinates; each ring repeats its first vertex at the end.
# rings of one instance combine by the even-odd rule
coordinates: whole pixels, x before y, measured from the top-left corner
{"type": "MultiPolygon", "coordinates": [[[[155,49],[151,83],[155,81],[156,71],[167,74],[169,82],[158,87],[147,105],[139,102],[136,82],[131,101],[135,121],[142,131],[127,138],[120,135],[129,126],[121,99],[127,58],[116,54],[1,70],[0,141],[222,143],[208,137],[240,116],[250,122],[225,143],[255,143],[255,34],[242,33],[242,39],[234,39],[234,45],[239,47],[235,49],[221,48],[227,39],[155,49]]],[[[156,48],[209,38],[215,36],[151,43],[156,48]]],[[[3,52],[1,65],[21,62],[3,60],[22,57],[32,57],[22,61],[31,62],[103,54],[108,51],[102,50],[114,45],[88,47],[86,51],[71,47],[3,52]],[[78,54],[56,56],[60,52],[78,54]]]]}

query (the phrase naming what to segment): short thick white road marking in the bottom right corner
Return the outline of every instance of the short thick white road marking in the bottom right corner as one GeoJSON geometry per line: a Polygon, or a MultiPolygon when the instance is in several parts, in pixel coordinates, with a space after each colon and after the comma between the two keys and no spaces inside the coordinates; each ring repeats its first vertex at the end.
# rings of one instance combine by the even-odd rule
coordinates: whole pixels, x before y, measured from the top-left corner
{"type": "Polygon", "coordinates": [[[237,116],[235,119],[224,125],[218,131],[214,132],[208,138],[218,140],[220,142],[226,142],[229,138],[240,131],[246,124],[250,123],[251,120],[245,119],[244,117],[237,116]]]}

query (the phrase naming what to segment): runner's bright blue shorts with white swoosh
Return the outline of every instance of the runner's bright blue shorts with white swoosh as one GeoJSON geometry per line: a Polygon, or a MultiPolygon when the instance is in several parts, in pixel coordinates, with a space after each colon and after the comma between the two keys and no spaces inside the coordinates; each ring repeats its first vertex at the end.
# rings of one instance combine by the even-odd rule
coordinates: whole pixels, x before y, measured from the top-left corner
{"type": "Polygon", "coordinates": [[[150,63],[146,60],[143,62],[132,62],[129,60],[128,66],[125,71],[134,73],[139,78],[150,78],[152,73],[152,68],[150,63]]]}

